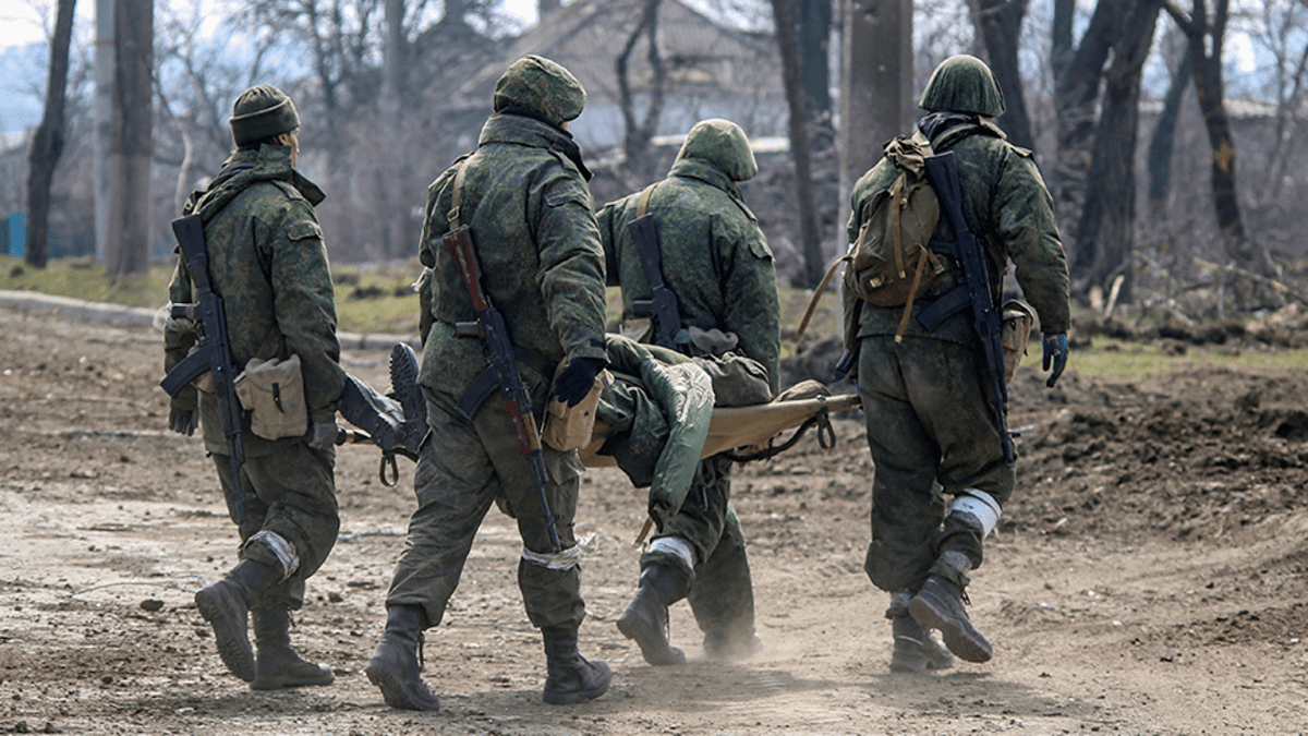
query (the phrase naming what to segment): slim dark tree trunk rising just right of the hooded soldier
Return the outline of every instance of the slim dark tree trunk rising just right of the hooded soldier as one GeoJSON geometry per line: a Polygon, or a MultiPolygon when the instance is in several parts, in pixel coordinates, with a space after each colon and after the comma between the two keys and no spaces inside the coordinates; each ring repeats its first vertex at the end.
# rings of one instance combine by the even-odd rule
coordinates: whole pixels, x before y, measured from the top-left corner
{"type": "Polygon", "coordinates": [[[804,90],[799,79],[799,42],[795,38],[795,0],[770,0],[777,22],[777,45],[781,48],[782,80],[790,110],[790,156],[795,164],[795,194],[799,198],[799,238],[804,254],[804,284],[816,287],[821,280],[824,258],[818,212],[814,206],[812,161],[808,151],[808,115],[804,90]]]}

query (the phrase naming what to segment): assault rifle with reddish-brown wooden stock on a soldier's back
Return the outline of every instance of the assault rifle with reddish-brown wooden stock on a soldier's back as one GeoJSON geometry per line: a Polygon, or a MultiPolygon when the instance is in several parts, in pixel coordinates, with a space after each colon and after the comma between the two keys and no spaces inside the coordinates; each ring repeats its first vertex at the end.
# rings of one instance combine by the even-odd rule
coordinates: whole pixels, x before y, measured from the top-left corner
{"type": "MultiPolygon", "coordinates": [[[[455,183],[455,187],[458,186],[455,183]]],[[[500,392],[504,396],[504,406],[509,410],[513,426],[518,431],[518,447],[531,469],[531,482],[536,488],[536,500],[540,502],[540,513],[545,517],[549,546],[557,554],[562,551],[562,546],[559,543],[559,529],[555,525],[557,519],[549,511],[549,499],[545,498],[545,460],[540,451],[540,431],[536,428],[536,418],[531,413],[531,394],[527,393],[527,386],[518,373],[517,351],[509,339],[509,329],[504,323],[504,316],[490,304],[490,297],[481,288],[481,265],[472,245],[472,229],[468,225],[458,225],[445,233],[441,240],[450,251],[450,257],[454,258],[454,265],[459,268],[463,285],[468,288],[468,296],[472,297],[472,310],[476,313],[475,322],[459,322],[455,325],[455,330],[460,335],[481,338],[481,354],[487,365],[494,371],[500,392]]]]}

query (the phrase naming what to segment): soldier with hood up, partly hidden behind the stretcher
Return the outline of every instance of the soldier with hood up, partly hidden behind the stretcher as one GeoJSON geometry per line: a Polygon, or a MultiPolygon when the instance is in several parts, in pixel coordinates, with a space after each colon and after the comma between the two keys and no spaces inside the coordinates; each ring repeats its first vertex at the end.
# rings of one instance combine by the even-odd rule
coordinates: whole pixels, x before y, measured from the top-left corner
{"type": "MultiPolygon", "coordinates": [[[[644,193],[606,204],[599,230],[610,285],[623,287],[624,331],[642,342],[678,334],[689,355],[727,351],[756,360],[772,394],[778,385],[778,299],[772,250],[736,182],[759,172],[739,126],[709,119],[685,138],[668,177],[644,193]],[[676,295],[680,325],[658,325],[637,308],[651,285],[628,223],[647,211],[658,227],[662,279],[676,295]]],[[[666,346],[672,347],[672,346],[666,346]]],[[[744,657],[763,646],[753,627],[753,587],[740,523],[730,503],[731,461],[702,461],[679,513],[661,524],[641,555],[640,587],[617,627],[655,665],[685,661],[667,640],[667,609],[688,598],[713,659],[744,657]]],[[[657,516],[655,516],[657,520],[657,516]]]]}

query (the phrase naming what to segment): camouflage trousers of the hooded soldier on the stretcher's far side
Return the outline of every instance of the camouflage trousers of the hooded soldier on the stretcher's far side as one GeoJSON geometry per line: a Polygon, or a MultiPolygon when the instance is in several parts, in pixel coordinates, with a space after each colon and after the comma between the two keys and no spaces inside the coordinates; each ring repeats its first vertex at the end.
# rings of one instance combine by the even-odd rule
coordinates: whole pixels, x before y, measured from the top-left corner
{"type": "MultiPolygon", "coordinates": [[[[685,598],[706,638],[746,642],[755,633],[753,581],[740,520],[731,506],[731,461],[709,457],[704,466],[708,478],[691,486],[681,509],[654,540],[680,537],[695,550],[697,564],[691,571],[685,598]]],[[[659,551],[641,555],[641,570],[650,564],[685,567],[676,555],[659,551]]]]}

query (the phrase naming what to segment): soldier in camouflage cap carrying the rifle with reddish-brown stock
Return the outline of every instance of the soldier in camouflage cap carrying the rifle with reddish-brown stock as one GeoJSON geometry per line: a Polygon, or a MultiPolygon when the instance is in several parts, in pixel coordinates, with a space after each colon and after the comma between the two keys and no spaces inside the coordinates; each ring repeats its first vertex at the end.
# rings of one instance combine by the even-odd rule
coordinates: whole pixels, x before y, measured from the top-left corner
{"type": "Polygon", "coordinates": [[[590,172],[566,130],[585,102],[581,84],[557,63],[514,62],[496,84],[477,149],[428,190],[420,255],[433,283],[419,384],[430,436],[413,478],[419,508],[386,597],[386,630],[368,663],[368,678],[392,707],[438,707],[419,676],[417,647],[441,622],[492,503],[517,519],[522,536],[518,585],[544,636],[545,702],[576,703],[608,689],[608,667],[577,651],[586,614],[573,537],[581,462],[576,452],[544,449],[545,495],[562,546],[553,553],[511,416],[490,396],[497,385],[477,380],[487,369],[481,340],[456,329],[473,317],[472,301],[441,240],[458,186],[458,219],[471,227],[483,285],[508,325],[538,420],[560,363],[553,394],[577,403],[606,363],[604,255],[590,172]]]}

